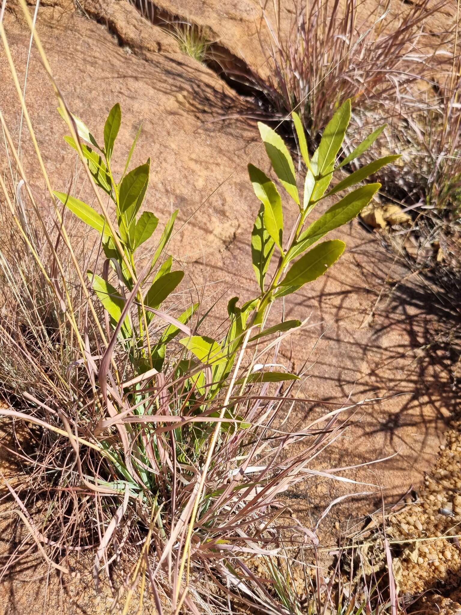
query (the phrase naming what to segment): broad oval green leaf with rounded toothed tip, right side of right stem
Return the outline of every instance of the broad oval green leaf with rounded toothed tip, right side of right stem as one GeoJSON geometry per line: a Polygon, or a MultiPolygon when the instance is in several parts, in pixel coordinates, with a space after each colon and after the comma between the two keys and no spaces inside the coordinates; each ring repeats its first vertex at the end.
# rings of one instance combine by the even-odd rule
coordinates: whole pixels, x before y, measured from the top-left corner
{"type": "Polygon", "coordinates": [[[323,275],[344,252],[345,243],[339,239],[324,241],[293,263],[279,286],[301,287],[323,275]]]}

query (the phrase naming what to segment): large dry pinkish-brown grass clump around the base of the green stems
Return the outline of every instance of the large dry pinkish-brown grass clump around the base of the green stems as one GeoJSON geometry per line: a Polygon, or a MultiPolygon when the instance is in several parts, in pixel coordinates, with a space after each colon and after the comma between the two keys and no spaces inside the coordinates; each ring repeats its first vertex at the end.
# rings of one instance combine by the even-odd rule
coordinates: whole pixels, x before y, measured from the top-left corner
{"type": "MultiPolygon", "coordinates": [[[[1,25],[0,32],[7,50],[1,25]]],[[[44,54],[42,60],[52,79],[44,54]]],[[[269,342],[249,341],[248,330],[232,376],[205,410],[185,387],[194,368],[178,375],[183,346],[168,346],[161,371],[136,371],[129,345],[127,350],[116,343],[84,276],[101,268],[101,246],[90,236],[81,245],[71,239],[71,223],[54,199],[17,86],[48,195],[45,204],[37,202],[0,113],[9,172],[0,178],[7,214],[0,250],[0,382],[6,405],[0,416],[8,431],[16,434],[21,426],[33,443],[23,446],[18,435],[8,449],[24,470],[20,485],[5,478],[13,512],[50,567],[92,576],[98,591],[104,574],[113,606],[122,601],[125,612],[135,591],[141,611],[148,587],[159,613],[165,605],[174,613],[230,613],[237,603],[262,613],[301,613],[306,603],[326,612],[335,603],[336,576],[325,581],[317,565],[309,600],[294,588],[292,562],[304,568],[318,538],[288,514],[281,497],[312,474],[313,458],[344,429],[340,417],[348,408],[333,405],[301,432],[286,431],[290,408],[302,401],[297,381],[282,389],[280,383],[246,380],[256,363],[280,360],[286,333],[269,342]],[[92,554],[91,571],[79,565],[85,553],[92,554]],[[255,559],[264,563],[269,583],[255,572],[255,559]]],[[[136,320],[138,288],[126,297],[120,323],[125,314],[136,320]]],[[[151,339],[171,324],[186,335],[202,326],[200,312],[187,325],[179,322],[176,301],[179,306],[181,296],[168,311],[156,312],[151,339]]],[[[16,557],[2,566],[0,577],[16,557]]],[[[353,601],[339,606],[347,613],[353,609],[353,601]]]]}

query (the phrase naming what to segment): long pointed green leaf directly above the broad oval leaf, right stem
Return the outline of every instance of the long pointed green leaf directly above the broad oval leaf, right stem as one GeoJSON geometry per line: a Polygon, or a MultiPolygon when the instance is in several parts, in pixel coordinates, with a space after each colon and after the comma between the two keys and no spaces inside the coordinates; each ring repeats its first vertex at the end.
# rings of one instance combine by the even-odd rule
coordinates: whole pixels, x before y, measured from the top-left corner
{"type": "Polygon", "coordinates": [[[299,236],[296,244],[291,248],[288,260],[291,261],[299,254],[307,250],[312,244],[321,239],[329,231],[342,226],[353,220],[361,210],[368,205],[373,195],[381,187],[380,184],[367,184],[352,192],[349,192],[344,199],[341,199],[326,212],[313,222],[309,228],[299,236]]]}

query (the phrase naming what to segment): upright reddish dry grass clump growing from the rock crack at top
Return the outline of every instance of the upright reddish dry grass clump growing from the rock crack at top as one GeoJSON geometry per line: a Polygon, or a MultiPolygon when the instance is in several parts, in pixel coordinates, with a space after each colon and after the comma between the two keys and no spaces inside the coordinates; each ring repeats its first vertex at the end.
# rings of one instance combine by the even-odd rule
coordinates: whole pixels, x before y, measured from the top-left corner
{"type": "Polygon", "coordinates": [[[414,105],[412,85],[431,76],[421,25],[440,6],[424,0],[391,15],[386,2],[314,0],[296,6],[289,34],[277,17],[275,28],[266,18],[270,103],[282,116],[293,109],[301,115],[312,149],[331,109],[347,98],[357,122],[352,139],[368,111],[388,121],[401,105],[414,105]]]}

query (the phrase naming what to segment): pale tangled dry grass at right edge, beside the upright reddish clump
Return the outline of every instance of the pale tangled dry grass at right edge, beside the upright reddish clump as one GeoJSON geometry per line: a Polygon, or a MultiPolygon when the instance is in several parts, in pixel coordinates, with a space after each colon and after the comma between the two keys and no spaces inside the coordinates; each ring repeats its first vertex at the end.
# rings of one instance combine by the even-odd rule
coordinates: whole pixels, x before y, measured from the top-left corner
{"type": "Polygon", "coordinates": [[[387,139],[377,143],[376,149],[402,154],[398,165],[388,167],[384,181],[406,205],[421,205],[438,215],[457,215],[461,207],[461,57],[457,32],[451,52],[443,57],[438,83],[420,93],[417,105],[404,109],[390,122],[387,139]]]}

